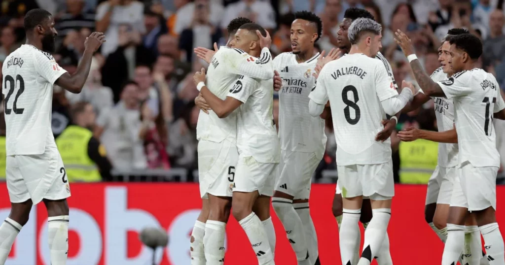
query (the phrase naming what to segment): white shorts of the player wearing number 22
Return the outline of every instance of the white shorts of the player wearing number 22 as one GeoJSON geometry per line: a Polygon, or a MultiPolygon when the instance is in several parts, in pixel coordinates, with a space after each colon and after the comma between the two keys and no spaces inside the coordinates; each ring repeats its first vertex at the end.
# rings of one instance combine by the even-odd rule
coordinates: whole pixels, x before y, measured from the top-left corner
{"type": "Polygon", "coordinates": [[[43,154],[9,155],[6,159],[7,189],[11,202],[70,197],[70,185],[58,148],[45,147],[43,154]]]}

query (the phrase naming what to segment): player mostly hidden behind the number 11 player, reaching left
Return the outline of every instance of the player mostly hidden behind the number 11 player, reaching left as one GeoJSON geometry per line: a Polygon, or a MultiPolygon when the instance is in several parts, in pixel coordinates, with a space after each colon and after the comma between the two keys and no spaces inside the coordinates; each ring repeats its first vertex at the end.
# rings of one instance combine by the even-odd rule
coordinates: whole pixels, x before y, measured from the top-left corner
{"type": "MultiPolygon", "coordinates": [[[[450,60],[449,39],[452,36],[464,33],[469,32],[466,29],[459,28],[450,29],[447,32],[447,35],[442,40],[442,45],[438,49],[438,60],[442,64],[442,67],[431,74],[430,78],[433,81],[442,81],[452,76],[453,72],[448,63],[450,60]]],[[[412,102],[407,104],[402,112],[407,113],[415,110],[430,99],[431,97],[425,95],[421,87],[419,93],[414,95],[412,102]]],[[[414,141],[421,138],[439,142],[438,165],[428,182],[428,190],[426,192],[425,219],[440,240],[445,243],[447,240],[446,226],[450,197],[458,166],[458,134],[454,127],[454,107],[452,100],[444,97],[433,97],[433,101],[435,103],[438,132],[419,130],[410,127],[404,131],[398,132],[397,136],[402,141],[414,141]]],[[[471,215],[465,222],[465,253],[462,255],[460,263],[489,264],[485,254],[482,256],[481,253],[480,231],[476,225],[474,216],[471,215]]]]}

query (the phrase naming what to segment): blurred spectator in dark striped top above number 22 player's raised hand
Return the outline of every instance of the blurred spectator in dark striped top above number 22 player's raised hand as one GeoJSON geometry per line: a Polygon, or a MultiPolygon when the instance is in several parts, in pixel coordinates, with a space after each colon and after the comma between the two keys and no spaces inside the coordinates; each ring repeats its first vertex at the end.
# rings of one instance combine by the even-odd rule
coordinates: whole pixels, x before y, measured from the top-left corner
{"type": "Polygon", "coordinates": [[[84,5],[85,0],[67,0],[66,12],[56,20],[58,37],[65,37],[69,31],[80,31],[82,28],[94,31],[94,14],[85,12],[84,5]]]}

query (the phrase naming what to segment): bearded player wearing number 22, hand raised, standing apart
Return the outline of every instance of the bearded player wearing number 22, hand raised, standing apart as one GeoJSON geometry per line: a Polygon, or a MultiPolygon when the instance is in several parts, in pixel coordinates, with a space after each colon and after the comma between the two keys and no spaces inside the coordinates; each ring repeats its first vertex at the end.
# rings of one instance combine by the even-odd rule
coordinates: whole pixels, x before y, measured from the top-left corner
{"type": "Polygon", "coordinates": [[[51,13],[30,10],[24,29],[26,44],[13,51],[2,66],[11,213],[0,226],[0,264],[6,262],[16,236],[28,222],[32,205],[43,201],[51,263],[62,265],[67,262],[70,186],[51,131],[53,85],[81,92],[93,53],[105,36],[93,32],[86,38],[81,62],[70,75],[51,56],[58,34],[51,13]]]}

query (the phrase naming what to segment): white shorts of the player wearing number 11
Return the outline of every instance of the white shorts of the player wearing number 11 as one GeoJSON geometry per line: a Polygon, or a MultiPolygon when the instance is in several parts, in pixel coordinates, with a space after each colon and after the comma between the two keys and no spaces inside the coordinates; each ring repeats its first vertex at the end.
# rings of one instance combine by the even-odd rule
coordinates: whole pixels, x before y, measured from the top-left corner
{"type": "Polygon", "coordinates": [[[497,167],[474,167],[465,162],[458,169],[450,206],[477,211],[493,207],[496,209],[497,167]]]}

